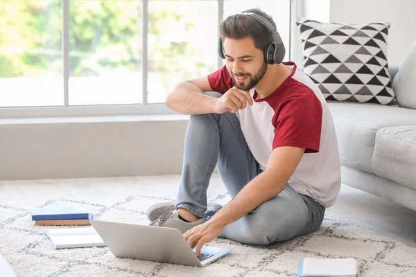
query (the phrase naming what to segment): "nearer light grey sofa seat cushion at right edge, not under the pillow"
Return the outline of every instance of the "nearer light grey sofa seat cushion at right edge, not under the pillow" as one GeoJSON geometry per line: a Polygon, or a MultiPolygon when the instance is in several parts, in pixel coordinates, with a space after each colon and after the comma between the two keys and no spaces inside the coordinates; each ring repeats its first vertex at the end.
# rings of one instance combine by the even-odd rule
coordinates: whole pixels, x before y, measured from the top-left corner
{"type": "Polygon", "coordinates": [[[416,125],[379,129],[372,169],[380,177],[416,189],[416,125]]]}

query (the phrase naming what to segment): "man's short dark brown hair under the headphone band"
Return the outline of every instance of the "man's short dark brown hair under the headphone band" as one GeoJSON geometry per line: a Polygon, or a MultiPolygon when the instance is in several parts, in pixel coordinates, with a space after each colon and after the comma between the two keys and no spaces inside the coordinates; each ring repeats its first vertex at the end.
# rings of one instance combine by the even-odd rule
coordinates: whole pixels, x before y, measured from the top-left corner
{"type": "MultiPolygon", "coordinates": [[[[270,23],[276,27],[275,21],[273,18],[263,12],[259,8],[252,8],[249,10],[244,10],[243,12],[253,12],[262,17],[266,17],[270,23]]],[[[254,45],[256,48],[259,48],[261,51],[266,48],[270,42],[273,41],[272,33],[261,24],[257,19],[249,17],[248,15],[230,15],[220,24],[220,37],[225,39],[225,37],[230,39],[243,39],[245,37],[252,37],[254,40],[254,45]]]]}

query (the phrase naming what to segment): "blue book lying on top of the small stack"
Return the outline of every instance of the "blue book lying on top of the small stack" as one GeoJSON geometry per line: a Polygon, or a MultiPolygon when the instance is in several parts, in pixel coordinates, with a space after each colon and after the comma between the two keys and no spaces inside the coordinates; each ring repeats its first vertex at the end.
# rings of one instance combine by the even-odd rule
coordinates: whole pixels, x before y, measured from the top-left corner
{"type": "Polygon", "coordinates": [[[91,220],[92,213],[85,207],[64,206],[33,208],[32,220],[91,220]]]}

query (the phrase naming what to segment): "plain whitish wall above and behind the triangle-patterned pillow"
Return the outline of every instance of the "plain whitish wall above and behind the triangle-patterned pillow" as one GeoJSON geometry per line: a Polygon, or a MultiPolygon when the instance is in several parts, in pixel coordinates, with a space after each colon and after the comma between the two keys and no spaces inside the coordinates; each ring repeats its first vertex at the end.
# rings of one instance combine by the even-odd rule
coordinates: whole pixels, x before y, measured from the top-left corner
{"type": "Polygon", "coordinates": [[[304,17],[324,22],[366,24],[389,21],[388,62],[401,64],[416,39],[415,0],[304,0],[304,17]]]}

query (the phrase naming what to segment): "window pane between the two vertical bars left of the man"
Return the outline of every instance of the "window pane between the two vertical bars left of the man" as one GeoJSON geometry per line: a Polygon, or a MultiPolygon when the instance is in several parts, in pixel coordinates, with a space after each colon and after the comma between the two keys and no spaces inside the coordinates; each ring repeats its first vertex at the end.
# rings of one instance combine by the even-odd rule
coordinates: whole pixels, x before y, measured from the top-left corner
{"type": "Polygon", "coordinates": [[[141,1],[69,1],[69,105],[142,102],[141,1]]]}

